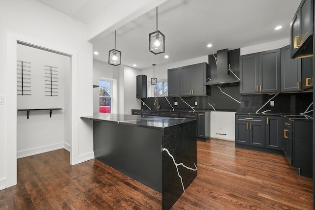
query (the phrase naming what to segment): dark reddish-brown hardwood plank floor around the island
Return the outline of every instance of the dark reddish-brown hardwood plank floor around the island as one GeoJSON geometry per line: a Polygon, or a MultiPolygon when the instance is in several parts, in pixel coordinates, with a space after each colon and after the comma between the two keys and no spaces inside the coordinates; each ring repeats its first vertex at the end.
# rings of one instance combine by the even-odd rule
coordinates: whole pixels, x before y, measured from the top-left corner
{"type": "MultiPolygon", "coordinates": [[[[197,178],[173,210],[313,209],[313,180],[282,155],[197,142],[197,178]]],[[[18,159],[18,184],[0,191],[0,210],[158,210],[161,194],[97,160],[74,166],[55,150],[18,159]]]]}

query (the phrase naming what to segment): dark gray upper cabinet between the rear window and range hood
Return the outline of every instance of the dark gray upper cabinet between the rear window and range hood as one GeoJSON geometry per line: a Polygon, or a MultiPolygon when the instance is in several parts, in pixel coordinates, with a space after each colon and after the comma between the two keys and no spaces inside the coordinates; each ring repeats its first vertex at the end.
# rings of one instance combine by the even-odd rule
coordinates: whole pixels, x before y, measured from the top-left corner
{"type": "Polygon", "coordinates": [[[168,96],[208,95],[210,87],[205,86],[208,78],[208,63],[198,63],[167,70],[168,96]]]}

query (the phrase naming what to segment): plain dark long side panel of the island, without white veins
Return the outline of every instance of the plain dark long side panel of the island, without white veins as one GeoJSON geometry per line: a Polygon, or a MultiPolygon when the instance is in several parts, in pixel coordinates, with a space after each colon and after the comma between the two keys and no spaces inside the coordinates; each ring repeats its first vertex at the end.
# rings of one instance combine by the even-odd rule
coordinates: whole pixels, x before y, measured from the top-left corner
{"type": "Polygon", "coordinates": [[[95,159],[162,192],[161,129],[94,121],[95,159]]]}

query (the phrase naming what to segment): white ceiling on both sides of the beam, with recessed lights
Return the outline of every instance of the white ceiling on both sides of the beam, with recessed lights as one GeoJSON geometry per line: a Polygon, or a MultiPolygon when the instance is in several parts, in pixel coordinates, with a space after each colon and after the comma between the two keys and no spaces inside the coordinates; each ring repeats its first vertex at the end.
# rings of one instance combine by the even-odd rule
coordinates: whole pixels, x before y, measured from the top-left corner
{"type": "MultiPolygon", "coordinates": [[[[38,0],[88,24],[115,0],[38,0]]],[[[290,22],[300,0],[167,0],[158,6],[158,30],[165,53],[149,52],[149,33],[156,30],[156,8],[116,30],[122,64],[152,68],[256,44],[289,38],[290,22]],[[277,26],[281,30],[275,30],[277,26]],[[207,44],[213,46],[207,48],[207,44]],[[165,59],[164,56],[169,58],[165,59]]],[[[115,18],[115,17],[113,17],[115,18]]],[[[104,20],[106,21],[106,20],[104,20]]],[[[95,60],[108,61],[114,31],[93,42],[95,60]]]]}

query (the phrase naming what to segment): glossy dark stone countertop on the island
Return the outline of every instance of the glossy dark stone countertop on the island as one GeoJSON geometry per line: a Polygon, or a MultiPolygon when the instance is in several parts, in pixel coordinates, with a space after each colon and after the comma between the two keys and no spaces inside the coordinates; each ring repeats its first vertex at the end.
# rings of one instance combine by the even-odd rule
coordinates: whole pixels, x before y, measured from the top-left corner
{"type": "Polygon", "coordinates": [[[93,116],[81,117],[81,119],[109,121],[119,124],[161,129],[177,124],[182,124],[195,119],[192,118],[167,118],[157,116],[124,115],[109,113],[94,113],[93,116]]]}

